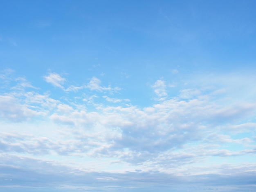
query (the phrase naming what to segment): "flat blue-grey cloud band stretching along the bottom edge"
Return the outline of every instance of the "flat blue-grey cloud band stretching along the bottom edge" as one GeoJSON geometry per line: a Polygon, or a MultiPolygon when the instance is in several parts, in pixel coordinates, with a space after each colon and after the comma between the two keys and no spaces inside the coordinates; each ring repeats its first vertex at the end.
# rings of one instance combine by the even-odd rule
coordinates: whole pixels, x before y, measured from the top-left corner
{"type": "MultiPolygon", "coordinates": [[[[177,175],[157,171],[148,172],[88,172],[68,165],[59,165],[56,161],[42,161],[35,158],[16,155],[0,155],[2,170],[1,186],[13,185],[17,190],[22,188],[55,189],[55,190],[98,190],[98,191],[244,191],[254,188],[256,172],[255,163],[245,163],[239,167],[232,165],[213,166],[211,170],[220,170],[215,174],[177,175]],[[12,159],[10,162],[9,159],[12,159]],[[20,162],[21,166],[16,166],[20,162]],[[246,171],[245,171],[246,170],[246,171]],[[13,174],[15,173],[15,174],[13,174]],[[24,174],[27,176],[24,177],[24,174]],[[22,178],[22,179],[21,179],[22,178]],[[132,178],[132,179],[131,179],[132,178]],[[40,181],[40,182],[38,182],[40,181]],[[171,185],[170,185],[171,181],[171,185]],[[65,184],[63,184],[65,183],[65,184]],[[236,183],[236,185],[234,185],[236,183]],[[151,189],[148,189],[150,185],[151,189]]],[[[203,170],[203,167],[194,167],[203,170]]]]}

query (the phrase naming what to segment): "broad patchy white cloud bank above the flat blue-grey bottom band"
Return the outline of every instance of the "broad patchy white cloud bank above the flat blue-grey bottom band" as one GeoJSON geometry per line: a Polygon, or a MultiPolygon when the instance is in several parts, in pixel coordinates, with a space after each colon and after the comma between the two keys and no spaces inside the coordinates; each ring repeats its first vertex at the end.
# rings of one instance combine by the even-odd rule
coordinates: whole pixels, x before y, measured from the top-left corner
{"type": "MultiPolygon", "coordinates": [[[[19,82],[25,80],[20,78],[16,83],[19,82]]],[[[110,86],[101,86],[97,78],[92,78],[84,87],[98,92],[115,90],[110,86]]],[[[79,92],[62,92],[65,99],[56,100],[49,94],[40,94],[40,89],[26,91],[27,88],[29,86],[8,89],[11,91],[0,96],[0,126],[6,125],[2,121],[9,121],[14,127],[9,132],[7,127],[0,135],[0,160],[6,162],[8,156],[11,158],[8,165],[17,161],[20,167],[30,166],[29,170],[35,175],[33,166],[38,165],[40,173],[51,173],[52,181],[57,178],[52,172],[55,169],[67,178],[70,175],[79,177],[86,170],[86,174],[92,174],[92,180],[100,185],[106,180],[121,186],[122,181],[117,172],[122,172],[124,178],[137,174],[136,181],[141,181],[141,178],[144,180],[145,177],[147,181],[154,181],[162,176],[177,182],[180,178],[189,178],[186,181],[211,183],[220,175],[225,175],[222,170],[218,170],[223,166],[223,159],[230,162],[229,166],[233,163],[233,168],[244,168],[244,164],[238,163],[254,158],[256,103],[223,102],[216,94],[217,88],[205,92],[204,89],[183,89],[177,97],[158,100],[147,107],[121,105],[129,100],[115,96],[80,95],[79,92]],[[77,96],[76,99],[71,99],[74,96],[77,96]],[[93,100],[102,100],[101,97],[110,103],[96,103],[93,100]],[[31,120],[29,123],[34,131],[22,124],[28,120],[31,120]],[[65,162],[67,159],[74,163],[69,165],[65,162]],[[25,160],[31,165],[26,164],[25,160]],[[154,172],[156,170],[158,172],[154,172]],[[208,180],[196,178],[205,175],[208,180]]],[[[163,80],[157,80],[153,88],[160,98],[166,96],[166,82],[163,80]]],[[[17,169],[16,173],[19,171],[22,169],[17,169]]],[[[236,171],[245,174],[244,170],[236,171]]],[[[15,175],[12,177],[15,178],[15,175]]],[[[237,179],[235,176],[230,178],[237,179]]],[[[44,181],[47,185],[52,182],[50,179],[44,181]]],[[[76,183],[67,184],[70,188],[76,187],[76,183]]],[[[105,185],[101,187],[107,188],[105,185]]]]}

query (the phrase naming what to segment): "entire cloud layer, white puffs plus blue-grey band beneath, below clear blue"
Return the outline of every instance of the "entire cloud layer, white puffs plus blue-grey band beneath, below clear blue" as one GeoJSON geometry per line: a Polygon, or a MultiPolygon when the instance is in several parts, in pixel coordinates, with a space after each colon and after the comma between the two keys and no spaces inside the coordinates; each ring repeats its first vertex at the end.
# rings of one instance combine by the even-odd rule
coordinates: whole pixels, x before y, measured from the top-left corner
{"type": "Polygon", "coordinates": [[[239,191],[255,185],[256,103],[230,97],[235,89],[215,82],[169,97],[172,86],[159,79],[150,85],[152,105],[137,106],[96,77],[70,94],[60,74],[43,76],[63,90],[56,96],[10,71],[1,75],[2,188],[136,191],[157,183],[178,191],[186,183],[198,191],[204,190],[199,185],[239,191]]]}

